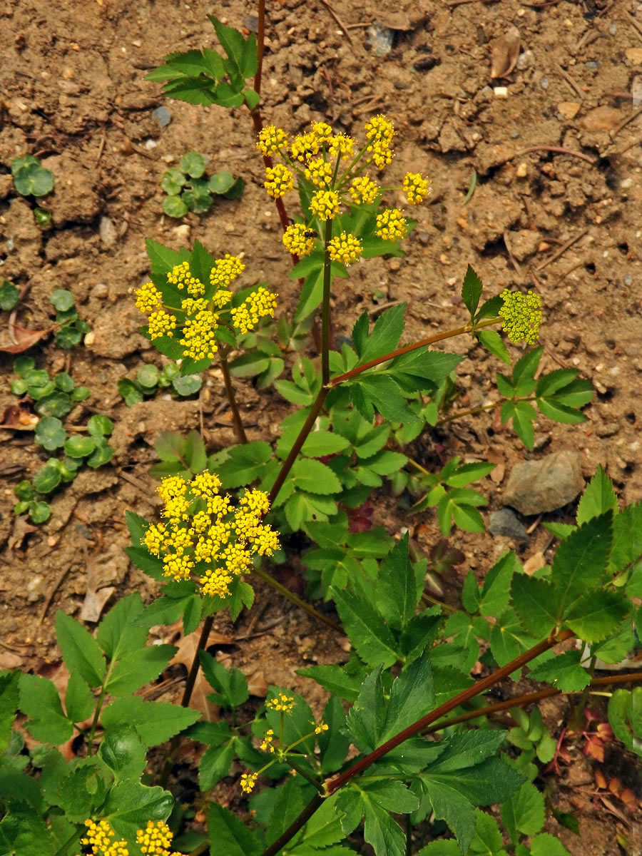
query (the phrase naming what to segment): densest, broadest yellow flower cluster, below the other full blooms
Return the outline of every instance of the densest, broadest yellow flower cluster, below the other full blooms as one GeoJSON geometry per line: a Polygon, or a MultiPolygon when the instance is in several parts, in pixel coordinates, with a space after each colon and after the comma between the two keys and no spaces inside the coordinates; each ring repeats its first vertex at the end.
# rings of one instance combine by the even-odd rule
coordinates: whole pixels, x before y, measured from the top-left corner
{"type": "Polygon", "coordinates": [[[220,486],[217,475],[207,472],[189,482],[181,476],[163,479],[158,493],[165,522],[152,524],[141,544],[163,558],[164,576],[187,580],[196,570],[204,594],[227,597],[229,584],[247,574],[253,556],[271,556],[279,541],[278,532],[261,523],[270,508],[267,494],[247,490],[234,508],[220,486]]]}

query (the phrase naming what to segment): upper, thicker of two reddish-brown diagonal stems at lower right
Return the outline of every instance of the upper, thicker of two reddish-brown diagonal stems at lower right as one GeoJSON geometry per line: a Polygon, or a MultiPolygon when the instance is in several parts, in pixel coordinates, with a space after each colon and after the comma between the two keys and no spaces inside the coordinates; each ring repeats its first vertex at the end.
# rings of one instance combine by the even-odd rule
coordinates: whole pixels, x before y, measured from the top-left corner
{"type": "Polygon", "coordinates": [[[361,758],[360,761],[357,761],[356,764],[353,764],[352,767],[343,772],[340,776],[336,776],[336,778],[331,779],[330,782],[326,782],[325,788],[327,794],[331,796],[339,788],[342,788],[346,782],[349,782],[349,780],[354,776],[358,776],[364,770],[367,770],[368,767],[378,761],[379,758],[383,758],[383,755],[391,752],[396,748],[396,746],[403,743],[404,740],[407,740],[409,737],[413,737],[414,734],[418,734],[419,731],[423,731],[424,728],[431,725],[441,716],[444,716],[451,710],[455,710],[455,707],[459,707],[460,704],[464,704],[464,702],[467,702],[470,698],[474,698],[476,695],[479,695],[479,693],[484,693],[485,690],[492,687],[499,681],[502,681],[503,678],[510,675],[510,673],[515,669],[521,669],[522,666],[525,666],[526,663],[530,663],[530,661],[534,660],[535,657],[539,657],[539,655],[543,654],[544,651],[549,651],[550,648],[553,648],[558,643],[563,642],[564,639],[570,639],[572,636],[574,636],[572,630],[562,630],[552,638],[549,637],[548,639],[544,639],[543,642],[539,642],[538,645],[534,645],[528,651],[521,654],[520,657],[515,657],[515,659],[511,660],[510,663],[502,666],[502,669],[496,669],[496,671],[492,672],[483,680],[473,684],[473,687],[468,687],[467,690],[464,690],[463,693],[459,693],[455,698],[451,698],[449,701],[444,702],[444,704],[440,704],[439,707],[435,708],[435,710],[431,710],[430,713],[422,716],[421,719],[417,720],[417,722],[413,722],[413,724],[408,726],[408,728],[404,728],[404,730],[400,731],[399,734],[395,734],[395,736],[390,738],[390,740],[386,740],[382,746],[379,746],[374,752],[370,752],[364,758],[361,758]]]}

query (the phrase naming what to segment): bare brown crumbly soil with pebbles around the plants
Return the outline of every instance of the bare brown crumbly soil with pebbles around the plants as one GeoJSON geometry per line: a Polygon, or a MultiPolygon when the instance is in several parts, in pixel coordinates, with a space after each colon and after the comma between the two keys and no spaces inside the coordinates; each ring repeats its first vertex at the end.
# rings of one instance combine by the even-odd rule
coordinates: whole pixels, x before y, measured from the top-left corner
{"type": "MultiPolygon", "coordinates": [[[[482,414],[426,437],[413,449],[417,460],[434,455],[435,443],[447,456],[491,455],[499,466],[495,480],[482,485],[489,513],[502,506],[502,482],[515,462],[559,449],[580,451],[586,479],[602,464],[622,503],[642,499],[642,4],[336,0],[335,15],[317,0],[268,5],[265,121],[298,133],[312,119],[324,119],[359,135],[369,116],[384,112],[399,132],[388,183],[401,183],[408,169],[433,181],[430,204],[416,211],[407,257],[355,265],[350,279],[339,281],[335,335],[349,335],[364,308],[374,315],[377,306],[396,301],[407,302],[407,341],[461,324],[459,292],[470,263],[489,294],[507,286],[536,288],[545,310],[544,371],[577,367],[596,388],[586,424],[543,420],[532,453],[482,414]],[[392,31],[384,56],[369,44],[373,22],[392,31]],[[493,79],[493,39],[512,27],[520,34],[517,68],[493,79]],[[474,173],[477,187],[464,205],[474,173]]],[[[214,7],[176,0],[8,0],[0,9],[0,279],[28,286],[17,318],[34,330],[51,326],[54,289],[73,292],[81,318],[92,326],[86,347],[68,354],[50,337],[29,353],[51,372],[67,366],[76,383],[92,390],[68,425],[85,424],[94,412],[116,423],[112,465],[82,473],[53,500],[51,521],[33,528],[12,514],[13,486],[31,477],[46,455],[24,432],[0,431],[0,668],[55,664],[56,609],[78,615],[88,593],[97,597],[111,587],[109,603],[136,590],[152,597],[154,584],[128,565],[122,547],[128,544],[125,509],[158,513],[148,469],[159,431],[202,425],[211,451],[234,443],[217,369],[193,400],[159,393],[126,407],[118,394],[116,382],[134,377],[143,363],[162,366],[137,332],[132,299],[146,276],[145,238],[170,247],[198,239],[215,256],[243,254],[244,286],[268,281],[280,294],[281,312],[296,305],[298,286],[288,279],[290,262],[262,188],[247,111],[167,100],[145,80],[169,52],[213,46],[206,20],[212,12],[233,26],[255,27],[249,0],[214,7]],[[162,104],[171,112],[165,128],[152,116],[162,104]],[[205,153],[211,171],[241,175],[247,187],[241,199],[217,199],[208,214],[181,223],[163,216],[160,179],[189,150],[205,153]],[[34,225],[32,205],[13,190],[10,163],[27,153],[56,176],[56,192],[46,199],[53,214],[47,231],[34,225]]],[[[501,61],[502,43],[495,51],[501,61]]],[[[7,342],[6,314],[2,327],[0,341],[7,342]]],[[[449,347],[467,355],[459,406],[487,401],[501,366],[464,339],[449,347]]],[[[519,349],[512,350],[518,357],[519,349]]],[[[0,354],[0,366],[3,413],[15,403],[11,356],[0,354]]],[[[238,389],[250,439],[273,439],[287,402],[250,382],[238,389]]],[[[385,492],[372,502],[375,520],[391,534],[413,527],[425,549],[439,537],[431,512],[409,518],[385,492]]],[[[568,507],[557,517],[573,514],[568,507]]],[[[468,569],[482,578],[511,544],[461,532],[452,543],[467,556],[443,580],[445,599],[457,603],[468,569]]],[[[520,557],[526,561],[549,544],[536,526],[520,557]]],[[[217,620],[219,633],[250,637],[221,650],[229,662],[259,672],[257,687],[289,685],[320,703],[316,685],[294,669],[345,658],[344,640],[260,584],[257,603],[258,617],[256,611],[241,615],[235,627],[217,620]]],[[[547,708],[554,733],[565,713],[562,703],[547,708]]],[[[631,759],[607,746],[605,764],[640,796],[631,759]]],[[[639,853],[642,835],[633,815],[615,797],[594,796],[595,765],[578,743],[564,776],[550,776],[553,804],[580,817],[581,835],[555,821],[549,830],[574,854],[615,856],[618,836],[628,841],[628,853],[639,853]]],[[[232,780],[222,782],[217,799],[235,799],[234,787],[232,780]]]]}

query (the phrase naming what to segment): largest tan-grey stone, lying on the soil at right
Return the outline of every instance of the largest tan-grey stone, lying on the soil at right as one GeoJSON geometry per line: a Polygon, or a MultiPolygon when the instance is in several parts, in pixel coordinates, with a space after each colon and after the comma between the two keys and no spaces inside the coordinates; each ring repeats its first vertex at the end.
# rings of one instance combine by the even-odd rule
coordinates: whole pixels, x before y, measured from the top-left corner
{"type": "Polygon", "coordinates": [[[503,501],[520,514],[541,514],[573,502],[583,489],[580,454],[564,449],[539,461],[515,464],[503,501]]]}

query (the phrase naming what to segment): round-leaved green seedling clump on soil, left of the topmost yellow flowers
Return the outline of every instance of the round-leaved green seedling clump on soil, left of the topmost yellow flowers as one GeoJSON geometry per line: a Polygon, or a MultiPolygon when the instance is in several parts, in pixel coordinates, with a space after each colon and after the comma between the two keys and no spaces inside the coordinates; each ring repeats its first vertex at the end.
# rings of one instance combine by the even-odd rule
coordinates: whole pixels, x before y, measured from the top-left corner
{"type": "Polygon", "coordinates": [[[235,179],[231,172],[215,172],[205,175],[207,158],[199,152],[187,152],[178,168],[172,167],[164,173],[161,187],[167,197],[163,200],[163,211],[169,217],[185,217],[187,211],[205,214],[212,203],[212,193],[226,199],[238,199],[243,193],[245,182],[235,179]]]}

